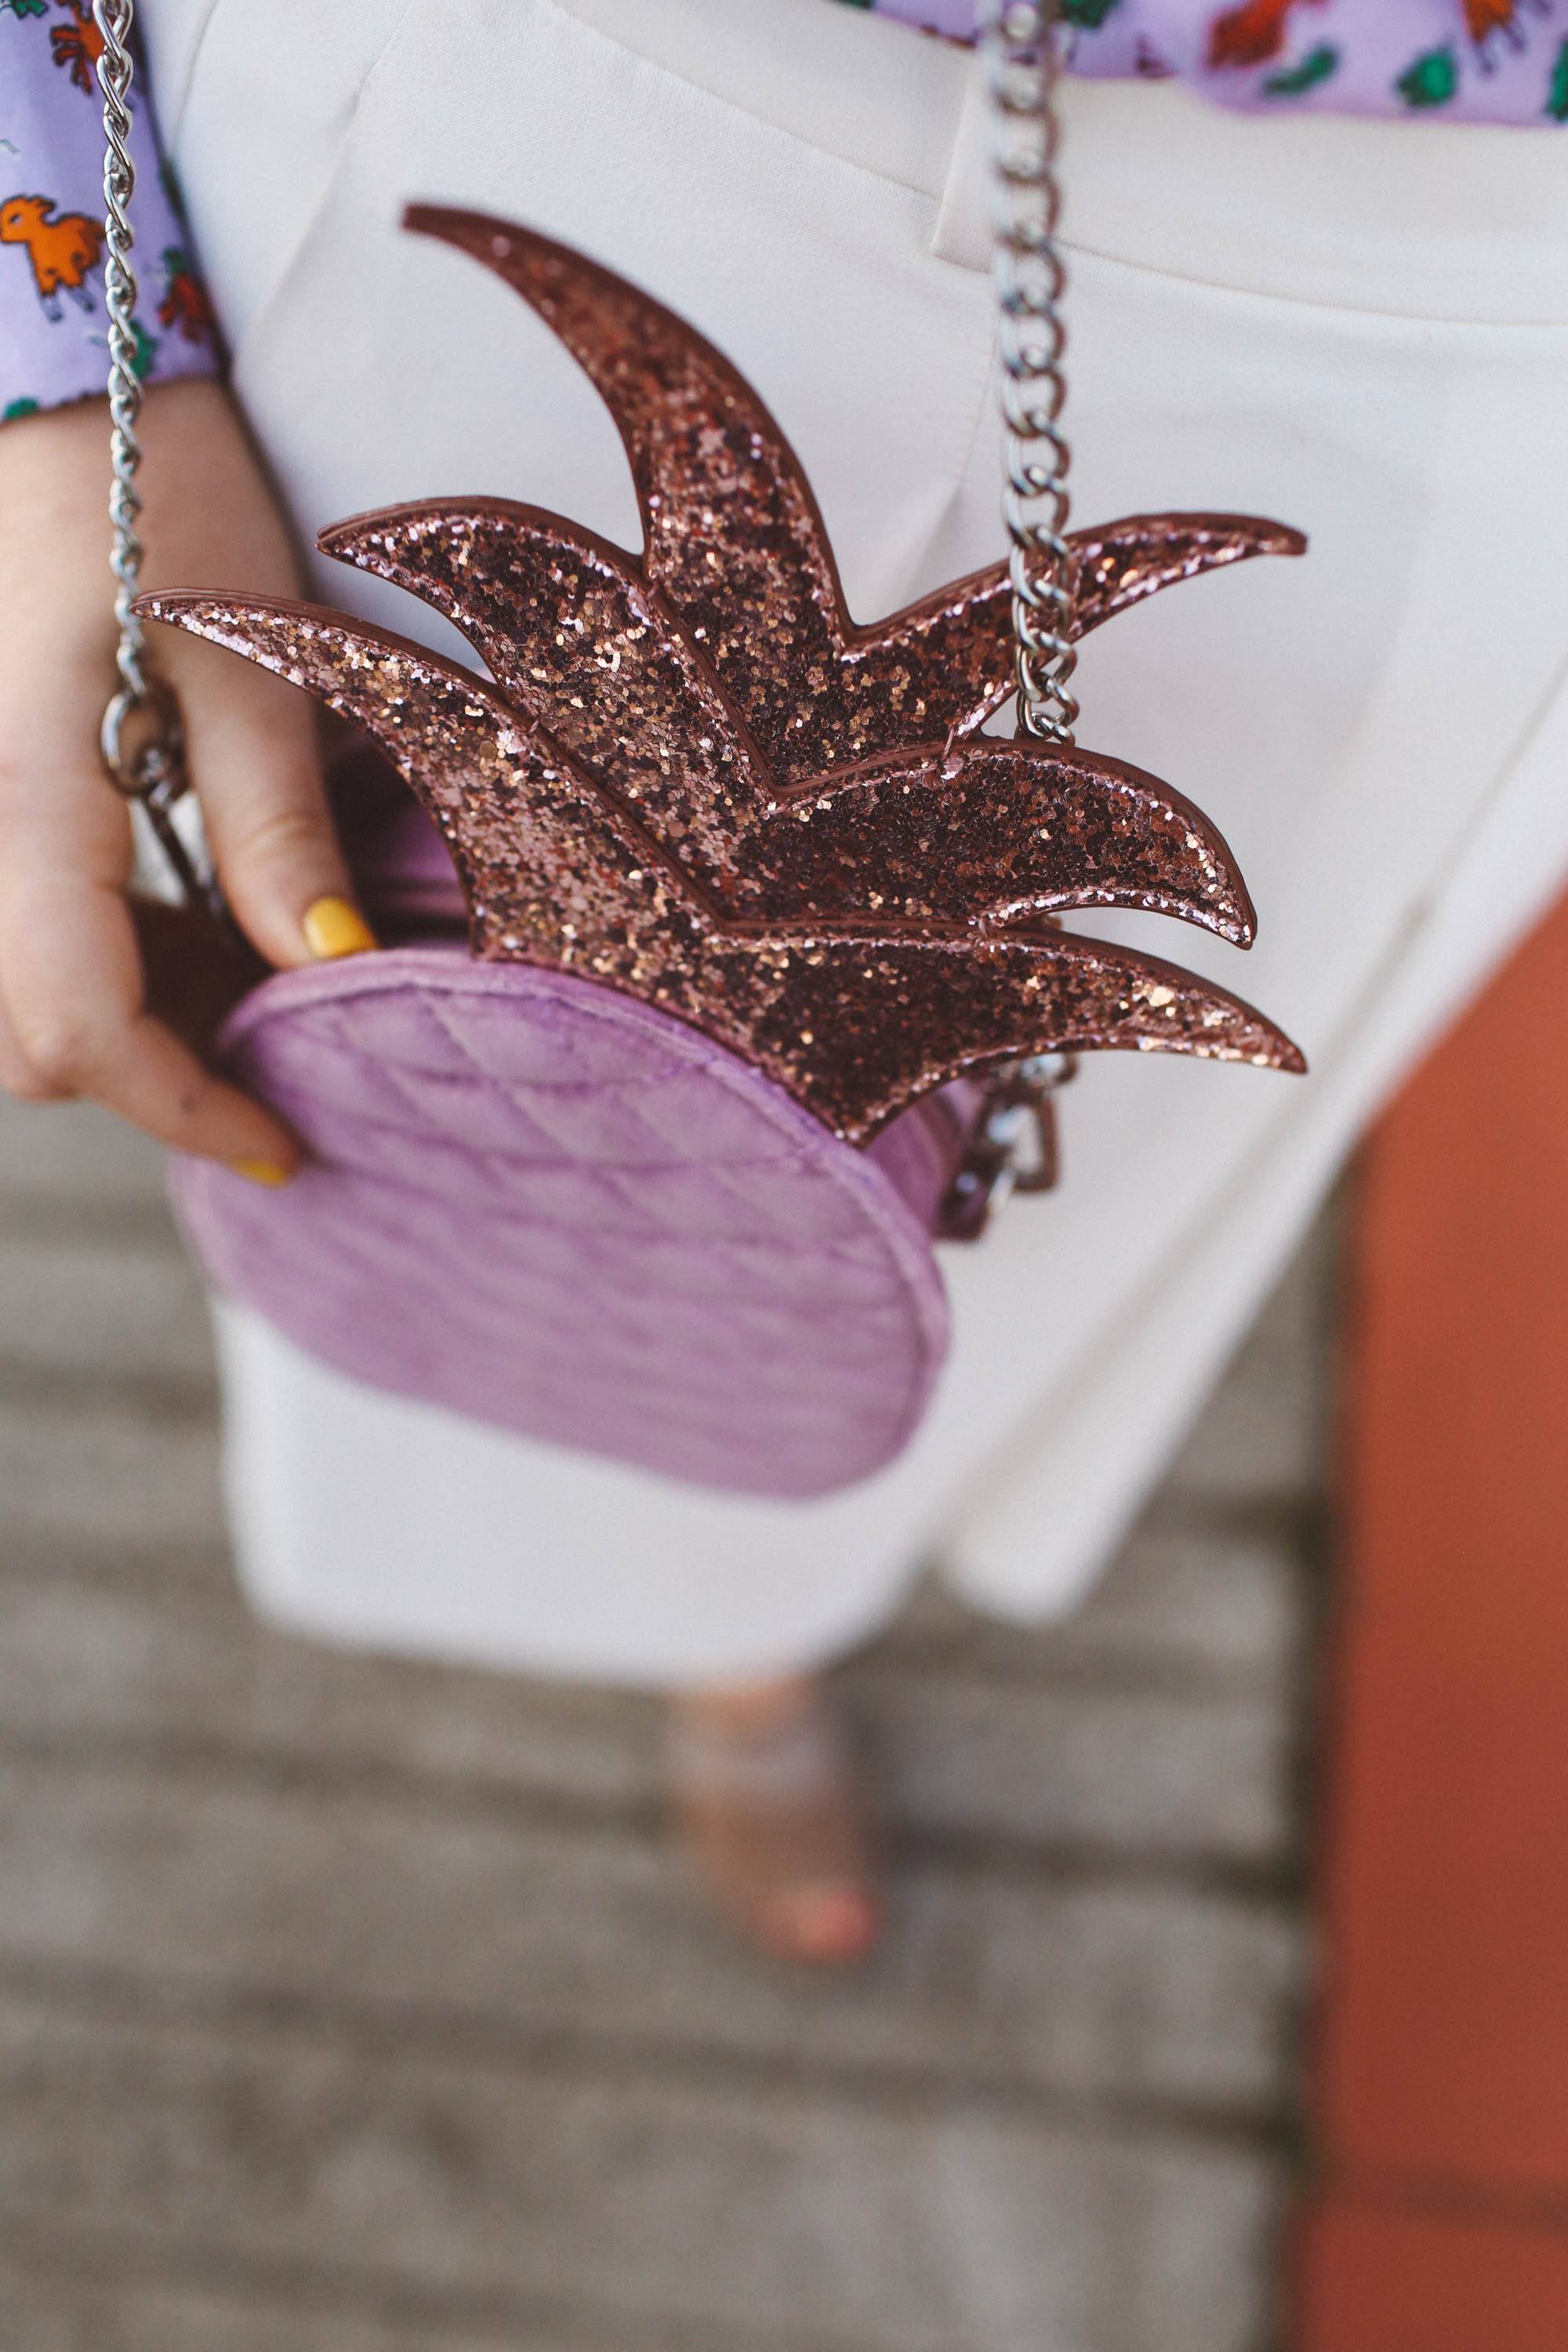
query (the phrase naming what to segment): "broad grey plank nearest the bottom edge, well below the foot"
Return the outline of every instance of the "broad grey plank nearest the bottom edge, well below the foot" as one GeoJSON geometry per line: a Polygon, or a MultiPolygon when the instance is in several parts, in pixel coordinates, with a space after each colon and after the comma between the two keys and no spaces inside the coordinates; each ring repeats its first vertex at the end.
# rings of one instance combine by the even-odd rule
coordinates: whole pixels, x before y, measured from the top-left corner
{"type": "Polygon", "coordinates": [[[1246,2352],[1279,2169],[1201,2136],[0,2002],[0,2216],[856,2352],[1246,2352]]]}

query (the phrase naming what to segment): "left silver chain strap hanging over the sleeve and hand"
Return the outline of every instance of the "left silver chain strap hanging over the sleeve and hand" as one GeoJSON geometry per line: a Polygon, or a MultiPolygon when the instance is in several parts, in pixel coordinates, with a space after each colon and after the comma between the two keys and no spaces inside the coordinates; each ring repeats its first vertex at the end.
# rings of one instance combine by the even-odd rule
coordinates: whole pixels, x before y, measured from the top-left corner
{"type": "Polygon", "coordinates": [[[174,804],[186,793],[186,743],[179,703],[162,677],[148,666],[148,644],[134,612],[141,586],[141,376],[136,360],[136,270],[132,268],[132,28],[136,0],[92,0],[92,19],[103,38],[99,54],[99,89],[103,92],[103,301],[108,306],[108,419],[110,473],[108,522],[113,532],[110,569],[115,574],[115,623],[120,644],[115,666],[120,687],[103,710],[99,748],[115,790],[146,809],[174,880],[190,906],[212,906],[212,884],[202,882],[174,823],[174,804]]]}

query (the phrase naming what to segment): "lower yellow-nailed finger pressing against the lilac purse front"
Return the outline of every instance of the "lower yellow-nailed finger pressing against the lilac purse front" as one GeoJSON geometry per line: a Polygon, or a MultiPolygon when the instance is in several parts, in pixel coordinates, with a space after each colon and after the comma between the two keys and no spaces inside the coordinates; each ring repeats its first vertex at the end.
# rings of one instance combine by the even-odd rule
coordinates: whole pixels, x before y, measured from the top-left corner
{"type": "Polygon", "coordinates": [[[33,1098],[87,1096],[160,1143],[259,1183],[299,1167],[289,1129],[146,1011],[141,957],[118,889],[66,868],[5,877],[0,990],[33,1098]]]}

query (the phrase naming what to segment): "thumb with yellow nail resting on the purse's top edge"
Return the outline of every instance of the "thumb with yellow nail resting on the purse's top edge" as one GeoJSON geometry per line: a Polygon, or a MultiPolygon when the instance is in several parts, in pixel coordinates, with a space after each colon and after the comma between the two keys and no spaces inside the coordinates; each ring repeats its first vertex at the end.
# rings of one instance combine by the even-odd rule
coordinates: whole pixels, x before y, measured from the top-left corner
{"type": "Polygon", "coordinates": [[[221,647],[165,635],[207,842],[244,934],[282,967],[374,948],[327,804],[315,706],[221,647]]]}

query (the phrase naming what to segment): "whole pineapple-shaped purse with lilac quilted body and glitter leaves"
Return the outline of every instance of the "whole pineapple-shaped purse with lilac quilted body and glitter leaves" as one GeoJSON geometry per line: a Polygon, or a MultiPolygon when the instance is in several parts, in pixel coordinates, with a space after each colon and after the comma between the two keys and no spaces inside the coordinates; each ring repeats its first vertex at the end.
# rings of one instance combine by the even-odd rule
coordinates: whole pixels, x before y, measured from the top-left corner
{"type": "MultiPolygon", "coordinates": [[[[1251,943],[1215,828],[1074,748],[1065,673],[1126,604],[1300,539],[1140,515],[1067,541],[1060,510],[1044,536],[1013,510],[1011,569],[856,626],[795,452],[696,329],[515,223],[409,226],[588,372],[644,550],[496,499],[322,534],[489,677],[310,604],[141,600],[378,755],[348,767],[346,830],[388,948],[263,978],[219,1040],[308,1162],[277,1195],[186,1162],[179,1204],[219,1284],[348,1374],[825,1494],[912,1435],[945,1350],[933,1237],[978,1230],[1023,1117],[1048,1131],[1058,1056],[1300,1068],[1237,997],[1056,927],[1133,906],[1251,943]],[[1025,734],[980,734],[1016,687],[1025,734]]],[[[1013,362],[1016,402],[1058,374],[1058,350],[1013,362]]],[[[1018,433],[1060,442],[1053,412],[1011,423],[1018,508],[1051,489],[1018,433]]]]}

